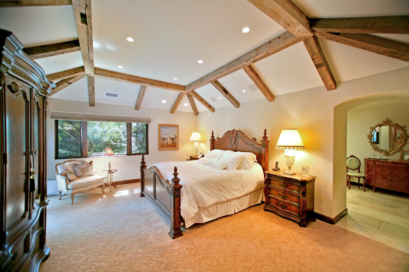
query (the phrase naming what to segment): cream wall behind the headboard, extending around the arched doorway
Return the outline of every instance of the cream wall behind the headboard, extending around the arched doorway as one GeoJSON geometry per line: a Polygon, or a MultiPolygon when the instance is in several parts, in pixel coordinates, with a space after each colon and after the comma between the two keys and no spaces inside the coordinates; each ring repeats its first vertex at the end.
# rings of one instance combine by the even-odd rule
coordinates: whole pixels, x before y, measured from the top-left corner
{"type": "MultiPolygon", "coordinates": [[[[286,168],[283,150],[276,150],[274,146],[282,129],[298,128],[306,150],[297,151],[293,169],[299,172],[301,166],[310,167],[310,174],[317,176],[315,211],[335,217],[346,207],[344,176],[346,111],[349,109],[339,107],[341,114],[335,116],[335,107],[361,95],[371,96],[384,91],[404,90],[409,97],[408,75],[409,68],[403,68],[341,82],[333,91],[327,91],[322,86],[278,95],[274,102],[263,99],[242,103],[240,108],[228,106],[217,108],[215,113],[201,112],[197,121],[198,131],[206,137],[214,130],[215,136],[221,137],[226,130],[235,128],[260,141],[264,128],[267,128],[267,136],[271,141],[269,168],[273,167],[275,161],[279,161],[281,168],[286,168]],[[342,130],[334,129],[334,124],[342,130]],[[342,165],[334,166],[337,157],[343,158],[342,165]]],[[[205,146],[209,149],[208,141],[205,146]]]]}

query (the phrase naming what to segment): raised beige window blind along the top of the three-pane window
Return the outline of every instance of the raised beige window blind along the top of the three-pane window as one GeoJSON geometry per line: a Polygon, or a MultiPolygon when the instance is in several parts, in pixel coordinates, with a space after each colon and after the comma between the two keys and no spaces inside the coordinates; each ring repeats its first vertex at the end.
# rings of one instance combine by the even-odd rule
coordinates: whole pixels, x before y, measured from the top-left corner
{"type": "Polygon", "coordinates": [[[128,116],[89,114],[89,113],[63,113],[59,111],[52,111],[51,119],[151,124],[151,118],[146,118],[146,117],[128,117],[128,116]]]}

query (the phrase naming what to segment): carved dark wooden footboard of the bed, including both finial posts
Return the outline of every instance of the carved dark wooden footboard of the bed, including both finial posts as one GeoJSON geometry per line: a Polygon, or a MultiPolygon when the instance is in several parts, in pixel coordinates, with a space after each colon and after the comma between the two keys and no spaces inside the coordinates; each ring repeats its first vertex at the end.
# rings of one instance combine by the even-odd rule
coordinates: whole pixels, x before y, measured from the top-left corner
{"type": "Polygon", "coordinates": [[[142,155],[141,161],[141,193],[140,197],[147,197],[152,205],[160,212],[160,214],[171,224],[168,232],[172,239],[182,236],[180,223],[180,189],[178,168],[174,168],[173,179],[169,182],[164,179],[159,169],[156,166],[147,168],[145,157],[142,155]]]}

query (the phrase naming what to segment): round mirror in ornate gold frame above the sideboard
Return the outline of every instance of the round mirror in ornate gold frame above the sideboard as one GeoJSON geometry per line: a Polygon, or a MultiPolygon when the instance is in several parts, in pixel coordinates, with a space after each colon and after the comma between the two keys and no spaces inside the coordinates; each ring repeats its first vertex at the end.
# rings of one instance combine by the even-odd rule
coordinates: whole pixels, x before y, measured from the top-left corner
{"type": "Polygon", "coordinates": [[[392,155],[406,144],[408,135],[405,126],[399,126],[386,118],[382,123],[369,128],[369,144],[382,155],[392,155]]]}

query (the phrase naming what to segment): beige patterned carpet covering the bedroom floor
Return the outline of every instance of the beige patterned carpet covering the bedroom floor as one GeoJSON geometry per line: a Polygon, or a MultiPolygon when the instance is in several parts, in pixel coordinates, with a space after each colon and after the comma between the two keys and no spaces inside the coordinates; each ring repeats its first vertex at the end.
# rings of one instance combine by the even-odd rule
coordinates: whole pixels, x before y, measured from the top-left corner
{"type": "Polygon", "coordinates": [[[316,221],[307,228],[258,205],[195,224],[172,240],[139,183],[49,197],[40,271],[408,271],[409,254],[316,221]]]}

